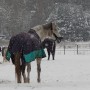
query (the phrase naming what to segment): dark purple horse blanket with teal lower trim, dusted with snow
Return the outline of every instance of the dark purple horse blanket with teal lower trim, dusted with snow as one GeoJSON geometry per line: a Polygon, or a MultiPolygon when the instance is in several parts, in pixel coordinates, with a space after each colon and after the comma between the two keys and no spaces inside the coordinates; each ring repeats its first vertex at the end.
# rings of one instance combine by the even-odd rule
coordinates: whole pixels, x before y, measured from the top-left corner
{"type": "Polygon", "coordinates": [[[40,38],[34,30],[30,30],[28,33],[19,33],[10,39],[6,59],[10,60],[11,55],[17,52],[22,53],[25,62],[46,57],[40,38]]]}

